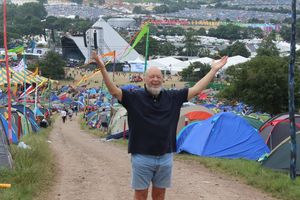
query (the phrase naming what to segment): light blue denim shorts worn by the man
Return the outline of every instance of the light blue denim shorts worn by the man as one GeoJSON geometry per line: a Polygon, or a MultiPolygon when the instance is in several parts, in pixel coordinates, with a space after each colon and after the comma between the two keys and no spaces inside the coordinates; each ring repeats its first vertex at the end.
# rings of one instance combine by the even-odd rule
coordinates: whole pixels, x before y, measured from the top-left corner
{"type": "Polygon", "coordinates": [[[157,188],[171,187],[173,153],[162,156],[131,155],[132,180],[134,190],[149,188],[150,183],[157,188]]]}

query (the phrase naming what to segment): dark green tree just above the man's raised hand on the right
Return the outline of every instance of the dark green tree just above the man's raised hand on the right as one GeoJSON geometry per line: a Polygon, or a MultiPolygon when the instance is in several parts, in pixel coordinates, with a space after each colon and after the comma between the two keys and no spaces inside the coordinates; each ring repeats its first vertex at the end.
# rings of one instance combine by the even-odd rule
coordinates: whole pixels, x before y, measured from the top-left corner
{"type": "Polygon", "coordinates": [[[234,44],[228,46],[226,49],[220,51],[220,56],[225,55],[230,57],[240,55],[248,58],[251,55],[251,53],[248,51],[244,43],[237,41],[234,44]]]}

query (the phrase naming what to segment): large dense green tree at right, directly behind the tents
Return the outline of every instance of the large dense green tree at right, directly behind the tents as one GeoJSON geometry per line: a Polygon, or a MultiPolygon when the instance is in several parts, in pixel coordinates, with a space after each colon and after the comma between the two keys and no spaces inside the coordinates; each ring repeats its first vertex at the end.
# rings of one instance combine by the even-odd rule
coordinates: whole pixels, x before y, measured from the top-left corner
{"type": "MultiPolygon", "coordinates": [[[[255,110],[278,114],[288,111],[288,61],[286,58],[259,56],[246,63],[229,67],[230,85],[220,92],[228,100],[242,101],[255,110]]],[[[295,91],[299,91],[300,73],[296,69],[295,91]]],[[[295,93],[297,109],[300,93],[295,93]]]]}

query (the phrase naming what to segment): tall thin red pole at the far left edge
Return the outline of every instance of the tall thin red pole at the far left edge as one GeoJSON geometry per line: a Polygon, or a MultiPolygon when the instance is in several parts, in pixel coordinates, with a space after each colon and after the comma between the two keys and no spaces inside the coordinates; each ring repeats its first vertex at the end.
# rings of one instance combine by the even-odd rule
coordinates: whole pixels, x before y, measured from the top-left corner
{"type": "Polygon", "coordinates": [[[11,94],[10,94],[10,77],[8,66],[8,53],[7,53],[7,30],[6,30],[6,0],[3,0],[3,40],[5,49],[5,66],[6,66],[6,80],[7,80],[7,109],[8,109],[8,137],[9,143],[12,144],[12,124],[11,124],[11,94]]]}

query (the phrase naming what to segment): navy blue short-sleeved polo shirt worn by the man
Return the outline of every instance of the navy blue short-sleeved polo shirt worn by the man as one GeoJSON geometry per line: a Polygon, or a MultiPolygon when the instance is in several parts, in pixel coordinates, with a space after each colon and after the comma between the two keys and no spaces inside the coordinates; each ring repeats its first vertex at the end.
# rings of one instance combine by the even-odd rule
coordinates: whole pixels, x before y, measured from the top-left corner
{"type": "Polygon", "coordinates": [[[176,151],[176,128],[188,89],[162,90],[158,97],[146,89],[122,90],[121,104],[128,112],[128,152],[163,155],[176,151]]]}

